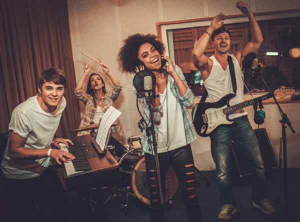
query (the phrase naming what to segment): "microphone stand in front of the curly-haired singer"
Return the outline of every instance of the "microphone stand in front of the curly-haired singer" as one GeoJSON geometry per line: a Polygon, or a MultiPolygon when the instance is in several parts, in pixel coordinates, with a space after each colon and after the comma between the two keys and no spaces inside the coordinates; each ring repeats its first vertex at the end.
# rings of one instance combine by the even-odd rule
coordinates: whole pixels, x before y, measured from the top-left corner
{"type": "MultiPolygon", "coordinates": [[[[160,179],[160,169],[159,169],[159,162],[158,162],[158,153],[157,153],[157,142],[156,142],[156,136],[155,136],[155,130],[154,130],[154,125],[153,125],[153,118],[152,118],[152,108],[151,108],[151,101],[155,97],[155,92],[154,90],[144,92],[148,93],[148,96],[144,96],[146,98],[146,101],[148,103],[148,108],[150,112],[150,122],[151,125],[146,127],[146,133],[149,136],[150,134],[152,135],[152,143],[153,143],[153,150],[154,150],[154,160],[155,160],[155,166],[156,166],[156,174],[157,174],[157,181],[158,181],[158,189],[159,189],[159,201],[160,204],[164,204],[164,198],[163,198],[163,192],[162,192],[162,187],[161,187],[161,179],[160,179]],[[151,95],[152,92],[152,95],[151,95]]],[[[148,139],[149,145],[151,145],[150,139],[148,139]]]]}

